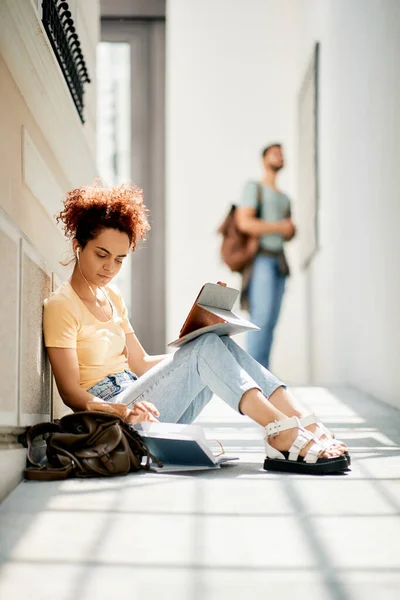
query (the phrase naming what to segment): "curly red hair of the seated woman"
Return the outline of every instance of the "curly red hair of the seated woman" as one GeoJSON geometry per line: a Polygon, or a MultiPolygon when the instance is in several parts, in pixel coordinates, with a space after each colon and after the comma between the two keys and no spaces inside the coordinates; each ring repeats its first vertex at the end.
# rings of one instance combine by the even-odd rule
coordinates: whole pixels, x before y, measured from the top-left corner
{"type": "Polygon", "coordinates": [[[104,228],[111,228],[128,235],[133,251],[150,229],[148,212],[142,190],[133,184],[92,185],[68,192],[56,220],[61,221],[65,236],[76,238],[82,247],[104,228]]]}

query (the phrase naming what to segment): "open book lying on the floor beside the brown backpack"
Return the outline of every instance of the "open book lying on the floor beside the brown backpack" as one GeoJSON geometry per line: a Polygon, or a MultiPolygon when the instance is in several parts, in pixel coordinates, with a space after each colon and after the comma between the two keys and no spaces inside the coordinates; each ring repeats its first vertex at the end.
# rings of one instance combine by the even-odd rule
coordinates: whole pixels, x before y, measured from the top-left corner
{"type": "Polygon", "coordinates": [[[162,463],[151,468],[157,472],[201,471],[218,469],[221,464],[237,457],[213,454],[200,425],[181,425],[179,423],[152,423],[144,421],[138,433],[146,446],[162,463]]]}

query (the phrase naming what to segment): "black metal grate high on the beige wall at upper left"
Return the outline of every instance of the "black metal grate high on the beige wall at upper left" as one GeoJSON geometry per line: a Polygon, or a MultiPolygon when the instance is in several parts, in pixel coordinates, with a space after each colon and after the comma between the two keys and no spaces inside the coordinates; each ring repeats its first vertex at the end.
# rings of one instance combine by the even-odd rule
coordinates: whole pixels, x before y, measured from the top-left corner
{"type": "Polygon", "coordinates": [[[83,84],[90,83],[81,43],[67,2],[43,0],[42,22],[60,64],[82,123],[83,84]]]}

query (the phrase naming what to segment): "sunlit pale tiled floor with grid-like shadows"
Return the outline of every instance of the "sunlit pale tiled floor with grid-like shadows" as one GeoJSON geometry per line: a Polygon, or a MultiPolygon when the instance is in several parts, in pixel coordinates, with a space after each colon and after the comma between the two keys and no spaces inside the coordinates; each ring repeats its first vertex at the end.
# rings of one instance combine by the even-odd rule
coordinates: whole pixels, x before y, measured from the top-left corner
{"type": "Polygon", "coordinates": [[[0,598],[398,600],[400,412],[300,388],[352,449],[348,474],[267,474],[262,430],[218,400],[205,473],[21,484],[0,505],[0,598]]]}

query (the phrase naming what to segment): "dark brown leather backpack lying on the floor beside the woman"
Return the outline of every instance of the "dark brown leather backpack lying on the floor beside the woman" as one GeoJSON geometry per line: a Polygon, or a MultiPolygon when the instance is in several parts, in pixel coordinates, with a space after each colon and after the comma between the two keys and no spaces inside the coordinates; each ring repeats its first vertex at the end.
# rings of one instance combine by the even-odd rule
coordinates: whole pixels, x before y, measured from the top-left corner
{"type": "Polygon", "coordinates": [[[150,459],[162,466],[131,425],[99,411],[78,412],[58,422],[33,425],[27,432],[27,444],[30,466],[24,471],[26,479],[125,475],[148,469],[150,459]],[[46,455],[40,456],[43,443],[38,446],[34,440],[46,434],[46,455]],[[143,457],[146,463],[142,467],[143,457]]]}

